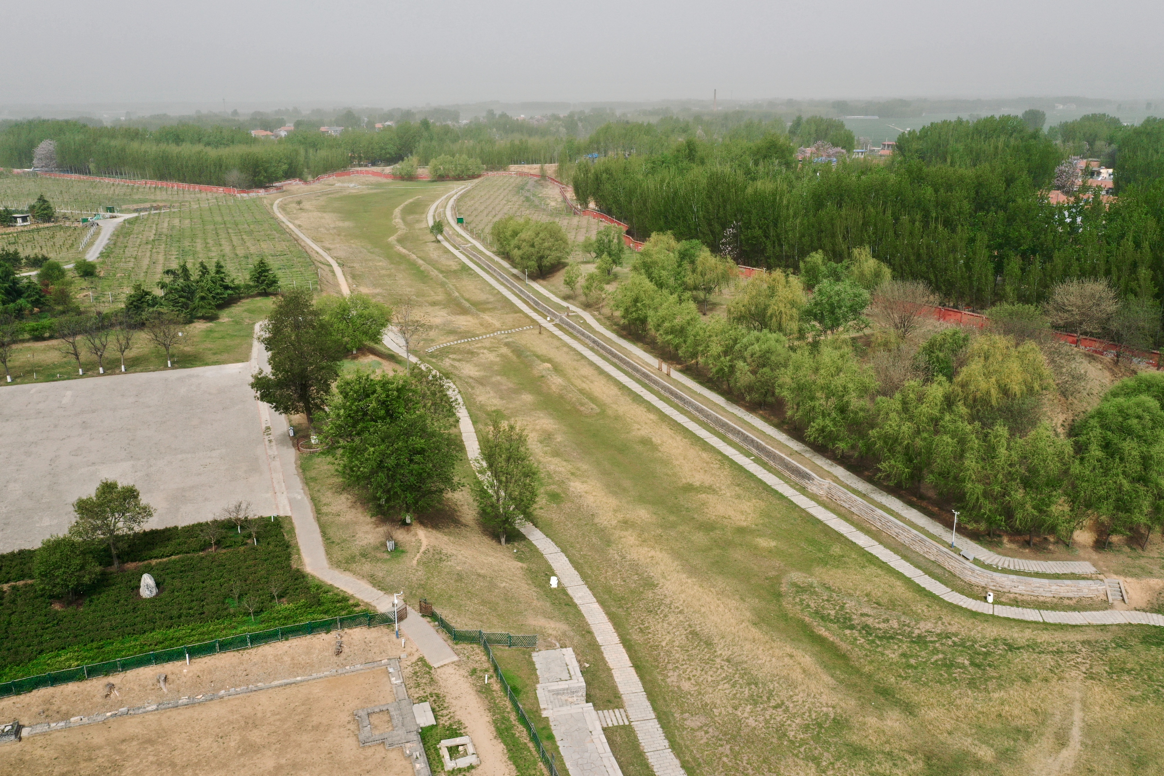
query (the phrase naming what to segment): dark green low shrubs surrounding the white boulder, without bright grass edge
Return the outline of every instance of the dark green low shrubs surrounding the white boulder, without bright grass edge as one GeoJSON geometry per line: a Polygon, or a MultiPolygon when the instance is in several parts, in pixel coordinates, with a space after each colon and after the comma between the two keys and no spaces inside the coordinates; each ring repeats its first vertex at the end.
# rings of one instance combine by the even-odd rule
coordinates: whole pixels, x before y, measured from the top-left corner
{"type": "MultiPolygon", "coordinates": [[[[169,542],[143,542],[139,549],[151,547],[142,551],[173,554],[175,548],[189,548],[180,541],[183,532],[176,533],[169,542]]],[[[249,625],[250,613],[234,598],[235,583],[240,598],[250,597],[258,604],[256,617],[286,604],[325,617],[354,610],[347,601],[321,595],[304,572],[291,567],[291,557],[282,525],[265,522],[257,547],[184,555],[116,574],[106,570],[79,606],[56,608],[35,584],[12,585],[0,600],[0,675],[42,655],[85,645],[205,622],[249,625]],[[139,597],[144,572],[157,581],[155,598],[139,597]],[[275,600],[272,583],[278,584],[285,604],[275,600]],[[320,612],[320,605],[327,611],[320,612]]]]}

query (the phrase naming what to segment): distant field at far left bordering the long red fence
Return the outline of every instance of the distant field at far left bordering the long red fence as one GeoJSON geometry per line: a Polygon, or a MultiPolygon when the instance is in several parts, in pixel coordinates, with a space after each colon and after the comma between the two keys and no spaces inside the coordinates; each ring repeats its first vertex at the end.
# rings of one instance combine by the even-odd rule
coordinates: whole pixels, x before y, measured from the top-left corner
{"type": "Polygon", "coordinates": [[[136,186],[133,184],[70,180],[37,175],[0,172],[0,207],[23,212],[29,202],[44,194],[62,220],[79,221],[81,216],[104,211],[107,206],[119,212],[152,207],[183,207],[199,205],[217,194],[178,188],[136,186]]]}

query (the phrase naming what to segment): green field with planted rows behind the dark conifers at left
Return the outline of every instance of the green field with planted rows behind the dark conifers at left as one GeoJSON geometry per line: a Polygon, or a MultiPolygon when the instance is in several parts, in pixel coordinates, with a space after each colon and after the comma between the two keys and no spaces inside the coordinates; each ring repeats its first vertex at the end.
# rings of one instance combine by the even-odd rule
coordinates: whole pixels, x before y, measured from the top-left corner
{"type": "Polygon", "coordinates": [[[187,262],[222,262],[236,278],[265,258],[279,283],[314,286],[318,272],[311,258],[260,199],[215,197],[198,207],[129,219],[113,234],[99,259],[97,287],[114,301],[134,283],[154,286],[162,271],[187,262]]]}

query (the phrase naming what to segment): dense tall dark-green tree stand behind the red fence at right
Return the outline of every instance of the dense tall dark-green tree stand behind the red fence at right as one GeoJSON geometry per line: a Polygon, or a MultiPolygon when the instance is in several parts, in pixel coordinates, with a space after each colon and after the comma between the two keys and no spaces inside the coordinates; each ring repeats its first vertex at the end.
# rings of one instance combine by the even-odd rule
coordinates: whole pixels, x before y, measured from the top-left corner
{"type": "MultiPolygon", "coordinates": [[[[797,270],[814,251],[867,245],[895,276],[978,307],[1035,304],[1071,278],[1108,278],[1123,296],[1164,287],[1159,122],[1126,128],[1119,201],[1051,205],[1064,149],[1017,118],[946,121],[903,134],[890,164],[792,163],[787,135],[601,158],[573,173],[581,201],[633,234],[670,232],[740,263],[797,270]]],[[[643,136],[658,134],[643,129],[643,136]]],[[[753,133],[754,136],[754,133],[753,133]]]]}

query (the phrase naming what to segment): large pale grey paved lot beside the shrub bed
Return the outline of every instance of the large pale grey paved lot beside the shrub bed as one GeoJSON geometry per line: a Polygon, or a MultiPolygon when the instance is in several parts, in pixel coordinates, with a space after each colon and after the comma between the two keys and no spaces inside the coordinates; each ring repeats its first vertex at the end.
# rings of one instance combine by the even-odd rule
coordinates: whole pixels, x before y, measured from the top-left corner
{"type": "Polygon", "coordinates": [[[0,387],[0,553],[63,534],[102,478],[154,507],[147,528],[250,501],[276,514],[250,363],[0,387]]]}

